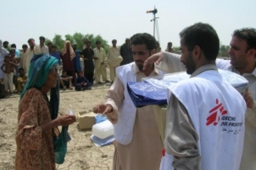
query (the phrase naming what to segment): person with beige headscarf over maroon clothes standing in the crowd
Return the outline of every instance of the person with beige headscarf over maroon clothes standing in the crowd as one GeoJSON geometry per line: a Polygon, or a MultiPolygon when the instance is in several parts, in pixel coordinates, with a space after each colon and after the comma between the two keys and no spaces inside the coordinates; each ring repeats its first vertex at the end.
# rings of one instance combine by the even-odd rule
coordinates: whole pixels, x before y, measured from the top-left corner
{"type": "Polygon", "coordinates": [[[75,81],[75,69],[73,59],[75,57],[74,50],[70,41],[65,41],[63,49],[61,49],[61,59],[63,63],[63,70],[67,71],[67,75],[72,76],[72,83],[75,81]]]}

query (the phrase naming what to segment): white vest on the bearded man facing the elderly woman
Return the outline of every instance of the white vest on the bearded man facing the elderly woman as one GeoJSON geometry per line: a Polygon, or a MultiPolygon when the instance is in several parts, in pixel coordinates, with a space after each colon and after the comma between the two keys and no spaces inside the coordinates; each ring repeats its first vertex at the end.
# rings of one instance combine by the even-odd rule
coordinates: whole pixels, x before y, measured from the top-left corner
{"type": "Polygon", "coordinates": [[[123,145],[129,144],[133,139],[133,127],[136,117],[136,107],[127,91],[127,83],[136,82],[134,62],[116,68],[116,74],[124,87],[124,99],[118,109],[118,121],[114,124],[115,140],[123,145]]]}

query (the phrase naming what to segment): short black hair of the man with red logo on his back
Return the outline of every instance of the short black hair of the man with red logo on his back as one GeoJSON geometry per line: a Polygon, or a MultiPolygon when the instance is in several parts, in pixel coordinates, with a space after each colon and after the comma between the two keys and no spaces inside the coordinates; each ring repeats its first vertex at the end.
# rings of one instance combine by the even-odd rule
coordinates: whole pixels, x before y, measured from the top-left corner
{"type": "Polygon", "coordinates": [[[215,29],[209,24],[195,23],[180,32],[184,45],[192,51],[198,45],[207,60],[216,60],[220,49],[220,40],[215,29]]]}

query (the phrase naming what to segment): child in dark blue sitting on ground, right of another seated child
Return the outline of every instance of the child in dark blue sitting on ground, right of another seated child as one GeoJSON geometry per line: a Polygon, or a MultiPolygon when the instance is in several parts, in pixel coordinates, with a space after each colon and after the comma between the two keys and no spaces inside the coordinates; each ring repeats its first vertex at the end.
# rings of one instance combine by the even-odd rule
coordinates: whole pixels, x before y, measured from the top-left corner
{"type": "Polygon", "coordinates": [[[75,81],[75,89],[77,91],[80,90],[90,90],[92,88],[92,84],[84,77],[83,71],[78,71],[78,77],[75,81]]]}

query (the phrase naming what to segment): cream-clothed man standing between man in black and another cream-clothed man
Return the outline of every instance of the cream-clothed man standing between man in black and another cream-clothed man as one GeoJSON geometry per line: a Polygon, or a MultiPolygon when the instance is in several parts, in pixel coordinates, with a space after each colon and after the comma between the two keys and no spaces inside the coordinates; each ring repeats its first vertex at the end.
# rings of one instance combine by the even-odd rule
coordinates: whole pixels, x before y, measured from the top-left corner
{"type": "Polygon", "coordinates": [[[106,53],[105,50],[101,47],[101,42],[96,41],[96,48],[93,49],[95,60],[95,81],[98,84],[101,84],[100,77],[102,76],[102,80],[106,83],[109,83],[107,79],[107,71],[106,71],[106,53]]]}

